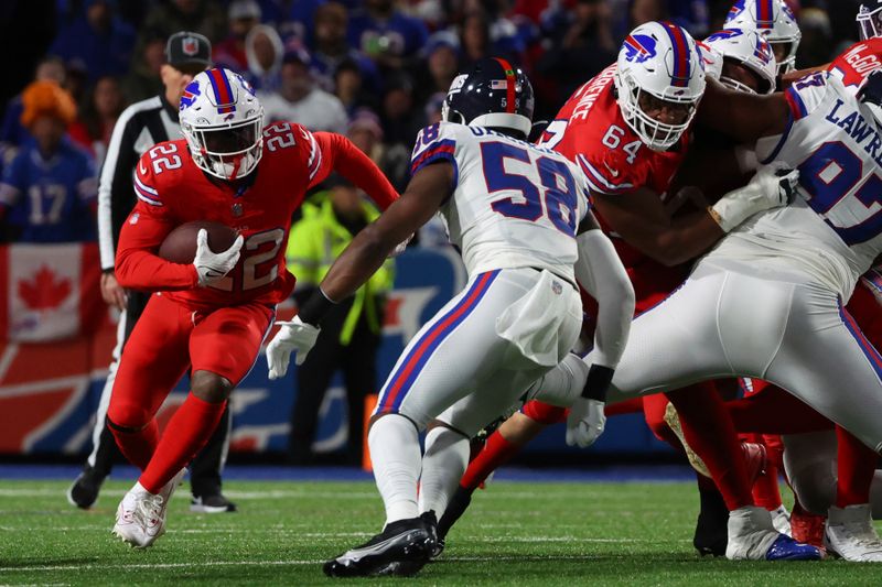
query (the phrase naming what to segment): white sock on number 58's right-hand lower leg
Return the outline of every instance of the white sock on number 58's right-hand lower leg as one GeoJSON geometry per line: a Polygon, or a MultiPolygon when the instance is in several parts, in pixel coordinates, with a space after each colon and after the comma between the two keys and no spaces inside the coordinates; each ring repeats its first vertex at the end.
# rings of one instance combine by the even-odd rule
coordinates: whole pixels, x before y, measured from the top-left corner
{"type": "Polygon", "coordinates": [[[420,477],[420,512],[444,513],[450,496],[469,465],[469,438],[444,426],[426,435],[426,456],[420,477]]]}

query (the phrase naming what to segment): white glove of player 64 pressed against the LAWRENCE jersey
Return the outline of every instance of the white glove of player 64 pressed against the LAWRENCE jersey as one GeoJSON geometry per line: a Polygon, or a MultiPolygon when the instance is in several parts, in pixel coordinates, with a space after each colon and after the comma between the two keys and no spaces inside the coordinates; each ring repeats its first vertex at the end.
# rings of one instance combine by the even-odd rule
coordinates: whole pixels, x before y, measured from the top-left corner
{"type": "Polygon", "coordinates": [[[756,213],[789,204],[798,181],[799,170],[763,167],[747,185],[729,192],[709,211],[723,232],[729,232],[756,213]]]}

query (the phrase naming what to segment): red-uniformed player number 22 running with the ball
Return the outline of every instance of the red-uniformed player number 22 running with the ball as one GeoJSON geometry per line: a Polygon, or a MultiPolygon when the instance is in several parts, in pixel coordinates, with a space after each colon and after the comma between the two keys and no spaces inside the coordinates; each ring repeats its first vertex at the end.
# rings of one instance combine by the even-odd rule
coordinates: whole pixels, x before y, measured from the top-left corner
{"type": "Polygon", "coordinates": [[[138,204],[122,228],[120,285],[155,293],[126,345],[108,425],[141,470],[117,510],[114,532],[150,546],[164,532],[169,498],[184,466],[207,442],[229,393],[248,373],[294,276],[284,250],[292,213],[333,170],[381,208],[397,197],[374,163],[346,138],[275,122],[239,75],[198,74],[180,105],[184,140],[159,143],[135,176],[138,204]],[[192,264],[157,256],[176,226],[212,220],[239,237],[214,252],[200,231],[192,264]],[[160,437],[154,417],[172,387],[192,371],[191,392],[160,437]]]}

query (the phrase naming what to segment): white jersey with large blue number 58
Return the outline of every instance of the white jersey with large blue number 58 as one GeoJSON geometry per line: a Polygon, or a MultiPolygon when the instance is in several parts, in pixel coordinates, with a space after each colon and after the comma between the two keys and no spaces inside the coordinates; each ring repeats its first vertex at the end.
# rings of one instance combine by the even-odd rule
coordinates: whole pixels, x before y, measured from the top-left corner
{"type": "Polygon", "coordinates": [[[588,181],[563,155],[480,127],[440,122],[417,137],[411,175],[445,160],[453,194],[441,207],[470,275],[533,267],[574,281],[576,230],[588,181]]]}

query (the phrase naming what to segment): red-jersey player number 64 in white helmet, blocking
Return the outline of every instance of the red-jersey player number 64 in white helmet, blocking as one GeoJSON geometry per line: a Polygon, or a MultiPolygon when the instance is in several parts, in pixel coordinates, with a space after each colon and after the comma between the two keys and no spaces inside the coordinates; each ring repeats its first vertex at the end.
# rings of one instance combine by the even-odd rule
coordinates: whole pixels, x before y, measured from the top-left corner
{"type": "MultiPolygon", "coordinates": [[[[637,313],[663,301],[682,282],[688,273],[684,262],[707,251],[744,218],[772,205],[724,197],[708,211],[675,219],[666,209],[666,194],[687,154],[687,130],[702,95],[703,66],[695,42],[681,29],[667,23],[642,25],[625,40],[617,64],[577,90],[544,135],[545,146],[578,162],[592,181],[599,220],[615,237],[613,242],[637,295],[637,313]]],[[[731,557],[746,556],[749,551],[755,555],[747,535],[757,529],[773,532],[772,521],[767,511],[753,504],[742,449],[722,400],[712,384],[704,383],[668,393],[667,399],[656,395],[628,402],[642,405],[656,435],[674,446],[680,442],[664,418],[668,400],[677,407],[687,443],[707,464],[723,493],[722,513],[727,509],[733,512],[730,528],[741,529],[728,536],[731,557]],[[696,393],[697,387],[706,389],[696,393]]],[[[562,409],[529,402],[504,424],[502,433],[493,434],[439,522],[439,536],[455,521],[456,508],[467,506],[471,491],[486,474],[542,426],[563,417],[562,409]],[[516,438],[505,435],[506,431],[516,438]]],[[[593,428],[599,436],[603,422],[595,422],[593,428]]],[[[700,488],[702,510],[716,507],[719,494],[712,483],[700,488]]],[[[727,534],[724,526],[720,530],[721,541],[697,530],[696,546],[702,554],[723,554],[727,534]],[[709,544],[711,541],[714,543],[709,544]]]]}

